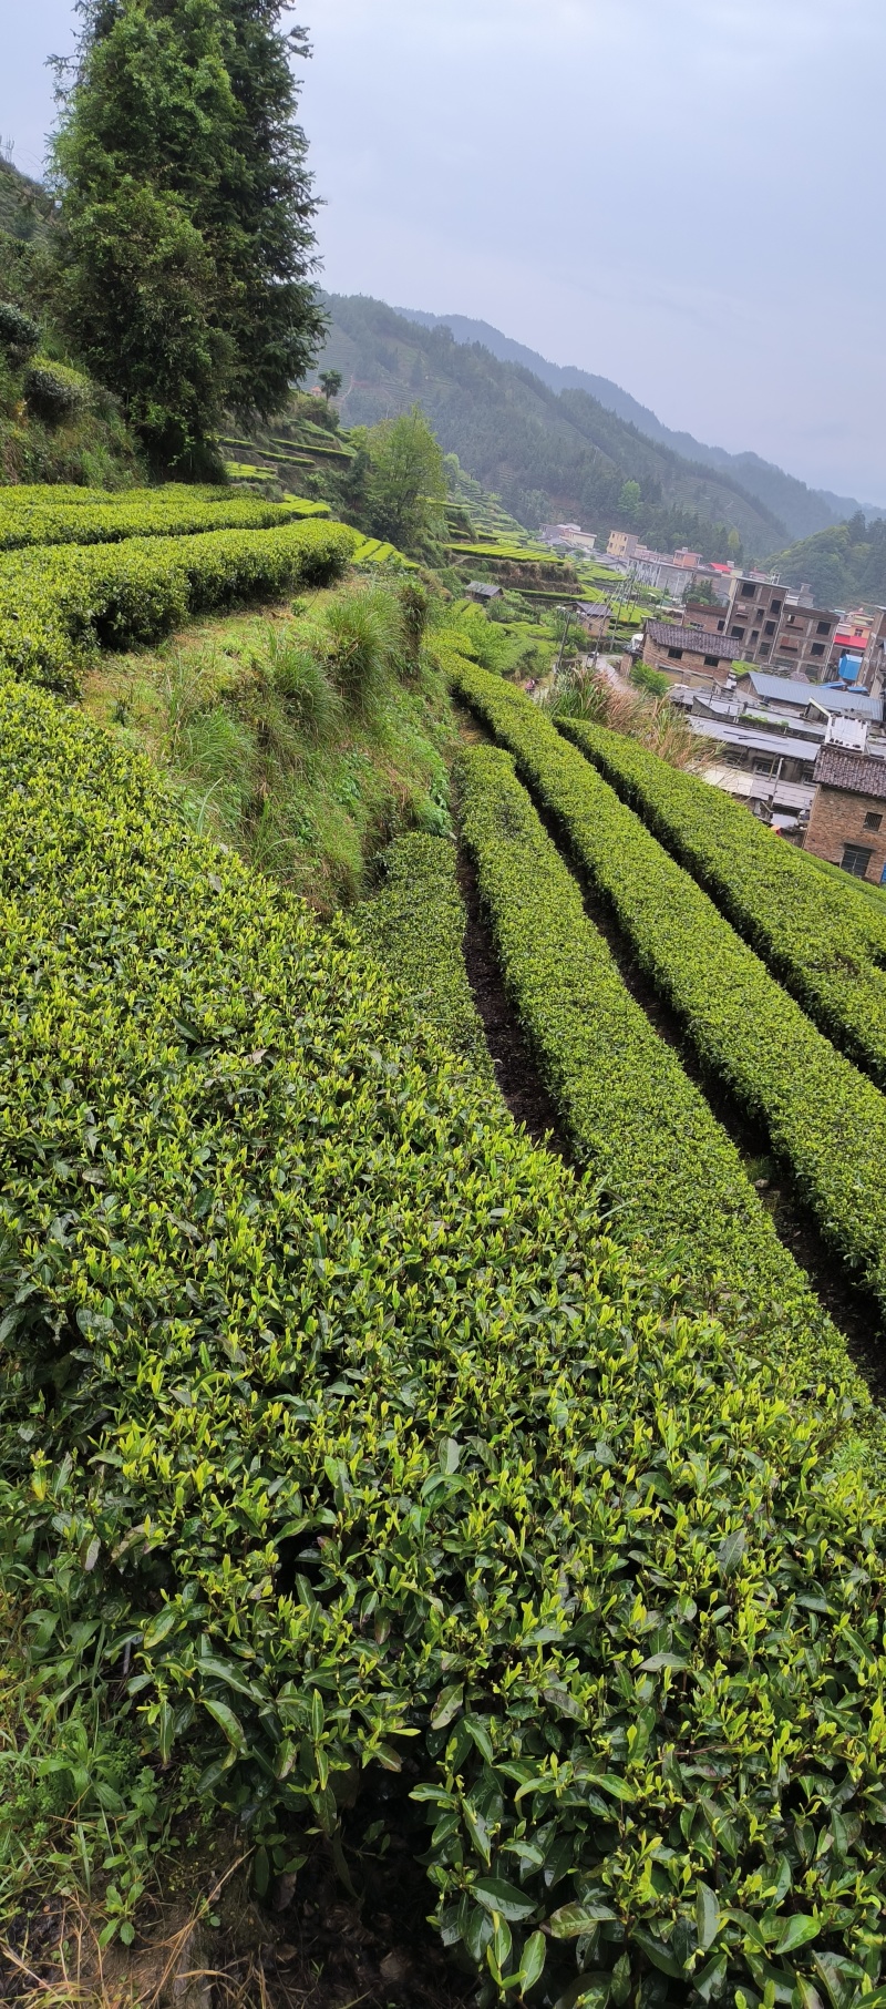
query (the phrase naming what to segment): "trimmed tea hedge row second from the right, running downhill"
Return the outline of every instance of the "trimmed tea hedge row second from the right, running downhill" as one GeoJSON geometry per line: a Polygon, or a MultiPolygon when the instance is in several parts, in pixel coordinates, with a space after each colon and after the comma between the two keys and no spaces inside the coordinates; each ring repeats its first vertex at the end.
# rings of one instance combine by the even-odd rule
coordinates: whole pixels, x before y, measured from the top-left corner
{"type": "Polygon", "coordinates": [[[767,1125],[826,1240],[886,1308],[886,1101],[522,691],[470,663],[462,697],[510,747],[701,1061],[767,1125]]]}

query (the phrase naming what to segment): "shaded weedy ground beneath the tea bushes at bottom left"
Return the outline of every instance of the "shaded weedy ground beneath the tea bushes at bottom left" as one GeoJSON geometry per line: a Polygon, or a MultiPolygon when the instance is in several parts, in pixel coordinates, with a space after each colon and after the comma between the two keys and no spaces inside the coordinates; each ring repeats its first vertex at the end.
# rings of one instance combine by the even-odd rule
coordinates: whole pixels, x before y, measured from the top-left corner
{"type": "MultiPolygon", "coordinates": [[[[406,1768],[404,1768],[406,1770],[406,1768]]],[[[408,1802],[370,1788],[348,1816],[352,1890],[317,1838],[297,1876],[279,1876],[261,1905],[249,1890],[249,1850],[219,1836],[211,1866],[189,1866],[187,1905],[159,1899],[133,1949],[98,1955],[84,1913],[56,1901],[24,1915],[0,1951],[0,2003],[36,2009],[466,2009],[476,1977],[452,1965],[428,1923],[434,1888],[418,1856],[428,1830],[408,1802]],[[386,1804],[388,1802],[388,1804],[386,1804]],[[366,1828],[388,1812],[388,1848],[366,1828]],[[217,1921],[211,1925],[205,1913],[217,1921]],[[203,1919],[201,1919],[203,1913],[203,1919]],[[60,1945],[64,1961],[60,1963],[60,1945]]],[[[173,1872],[181,1884],[183,1864],[173,1872]]]]}

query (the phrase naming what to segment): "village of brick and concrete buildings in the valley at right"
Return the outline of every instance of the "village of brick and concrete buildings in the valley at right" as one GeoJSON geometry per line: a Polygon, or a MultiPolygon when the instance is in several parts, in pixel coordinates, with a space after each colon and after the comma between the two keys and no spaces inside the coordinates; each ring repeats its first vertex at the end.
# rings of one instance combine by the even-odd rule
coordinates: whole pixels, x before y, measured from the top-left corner
{"type": "MultiPolygon", "coordinates": [[[[595,548],[579,524],[546,524],[540,536],[565,556],[595,548]]],[[[613,655],[617,595],[581,601],[595,665],[659,677],[709,741],[707,782],[788,842],[886,884],[886,609],[816,607],[808,587],[695,550],[649,550],[625,530],[609,536],[605,565],[625,581],[619,595],[645,587],[661,605],[613,655]]]]}

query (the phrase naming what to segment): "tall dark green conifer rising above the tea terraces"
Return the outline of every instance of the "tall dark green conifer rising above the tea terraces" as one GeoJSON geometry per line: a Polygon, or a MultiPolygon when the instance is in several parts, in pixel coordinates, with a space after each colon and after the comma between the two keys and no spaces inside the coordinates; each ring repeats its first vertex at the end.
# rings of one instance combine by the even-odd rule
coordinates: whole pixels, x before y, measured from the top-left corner
{"type": "Polygon", "coordinates": [[[78,0],[60,70],[58,299],[151,458],[199,472],[225,408],[269,418],[323,317],[285,0],[78,0]]]}

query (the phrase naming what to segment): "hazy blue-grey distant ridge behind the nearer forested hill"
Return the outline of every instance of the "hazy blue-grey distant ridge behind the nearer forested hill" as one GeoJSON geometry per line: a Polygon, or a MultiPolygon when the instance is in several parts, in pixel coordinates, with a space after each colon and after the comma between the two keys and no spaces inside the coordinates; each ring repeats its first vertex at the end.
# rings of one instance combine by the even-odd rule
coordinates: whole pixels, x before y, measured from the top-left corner
{"type": "Polygon", "coordinates": [[[649,406],[639,404],[619,384],[593,376],[589,370],[548,364],[544,356],[536,356],[522,342],[502,336],[488,321],[472,321],[464,313],[420,313],[414,307],[398,307],[398,313],[420,327],[450,327],[456,342],[482,342],[500,362],[522,364],[524,370],[532,370],[550,390],[587,390],[607,412],[617,412],[619,418],[637,426],[637,432],[643,432],[647,440],[671,446],[685,460],[733,474],[757,502],[763,502],[765,508],[782,518],[792,538],[814,536],[816,530],[844,522],[858,510],[868,518],[886,516],[886,508],[872,502],[856,502],[854,496],[836,496],[828,488],[808,488],[806,482],[796,480],[794,474],[786,474],[771,460],[761,460],[759,454],[727,454],[723,446],[705,446],[691,432],[671,432],[649,406]]]}

